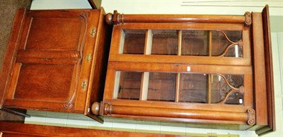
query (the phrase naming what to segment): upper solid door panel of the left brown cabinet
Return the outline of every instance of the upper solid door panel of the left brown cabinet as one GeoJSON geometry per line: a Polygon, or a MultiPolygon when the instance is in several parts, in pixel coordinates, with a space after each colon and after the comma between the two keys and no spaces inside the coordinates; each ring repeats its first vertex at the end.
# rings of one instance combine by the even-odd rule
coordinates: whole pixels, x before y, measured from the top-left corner
{"type": "Polygon", "coordinates": [[[20,49],[80,50],[89,11],[29,11],[20,49]]]}

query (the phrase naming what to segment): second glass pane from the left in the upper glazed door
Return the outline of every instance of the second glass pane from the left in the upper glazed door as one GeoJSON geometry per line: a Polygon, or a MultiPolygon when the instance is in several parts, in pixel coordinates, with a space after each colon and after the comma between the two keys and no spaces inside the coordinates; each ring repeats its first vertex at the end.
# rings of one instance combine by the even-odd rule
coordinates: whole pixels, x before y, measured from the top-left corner
{"type": "Polygon", "coordinates": [[[151,54],[177,55],[178,30],[152,30],[151,54]]]}

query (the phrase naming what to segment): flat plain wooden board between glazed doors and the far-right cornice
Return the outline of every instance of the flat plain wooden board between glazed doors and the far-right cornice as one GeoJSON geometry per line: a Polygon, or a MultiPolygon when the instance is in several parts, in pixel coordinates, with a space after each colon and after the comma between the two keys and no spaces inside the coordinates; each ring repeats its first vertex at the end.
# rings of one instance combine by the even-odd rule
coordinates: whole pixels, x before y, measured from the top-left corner
{"type": "Polygon", "coordinates": [[[267,94],[265,81],[265,49],[262,15],[253,13],[253,73],[256,124],[267,125],[267,94]]]}

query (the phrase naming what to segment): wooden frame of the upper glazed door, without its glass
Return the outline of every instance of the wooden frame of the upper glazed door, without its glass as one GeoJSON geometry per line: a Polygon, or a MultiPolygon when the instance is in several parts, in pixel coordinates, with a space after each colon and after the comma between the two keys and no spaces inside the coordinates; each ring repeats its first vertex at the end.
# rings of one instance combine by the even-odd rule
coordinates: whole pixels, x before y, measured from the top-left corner
{"type": "Polygon", "coordinates": [[[249,40],[249,30],[245,28],[241,24],[185,24],[185,23],[142,23],[142,24],[134,24],[134,23],[125,23],[123,25],[114,25],[113,27],[113,35],[112,41],[115,43],[111,44],[109,61],[131,61],[131,62],[154,62],[154,63],[171,63],[175,62],[181,64],[215,64],[217,65],[242,65],[249,66],[251,64],[250,58],[250,40],[249,40]],[[135,26],[139,26],[138,29],[141,30],[151,30],[154,28],[156,30],[166,30],[166,28],[170,28],[169,30],[242,30],[243,31],[243,42],[246,45],[243,47],[243,58],[226,58],[220,59],[218,56],[211,56],[209,59],[206,56],[178,56],[175,58],[173,56],[168,55],[154,55],[154,56],[144,56],[144,55],[132,55],[132,54],[120,54],[118,49],[120,49],[121,42],[121,31],[127,29],[133,29],[135,26]],[[203,28],[203,26],[206,26],[203,28]],[[189,61],[188,61],[189,60],[189,61]]]}

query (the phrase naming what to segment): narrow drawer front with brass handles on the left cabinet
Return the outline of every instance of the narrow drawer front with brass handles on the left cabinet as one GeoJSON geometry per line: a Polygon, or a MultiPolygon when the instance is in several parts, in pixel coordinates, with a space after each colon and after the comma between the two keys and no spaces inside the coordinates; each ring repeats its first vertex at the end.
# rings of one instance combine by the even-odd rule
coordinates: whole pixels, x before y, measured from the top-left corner
{"type": "Polygon", "coordinates": [[[96,41],[99,39],[100,30],[98,28],[99,11],[93,10],[88,12],[88,17],[86,18],[88,25],[86,27],[86,35],[83,41],[83,58],[81,63],[81,73],[80,82],[77,87],[78,93],[75,98],[74,109],[83,112],[86,104],[87,94],[91,88],[91,67],[96,64],[96,41]],[[81,83],[86,81],[86,86],[83,88],[81,83]]]}

